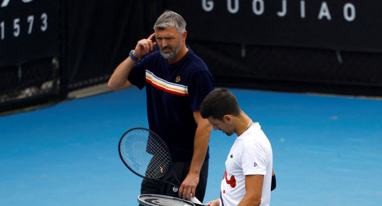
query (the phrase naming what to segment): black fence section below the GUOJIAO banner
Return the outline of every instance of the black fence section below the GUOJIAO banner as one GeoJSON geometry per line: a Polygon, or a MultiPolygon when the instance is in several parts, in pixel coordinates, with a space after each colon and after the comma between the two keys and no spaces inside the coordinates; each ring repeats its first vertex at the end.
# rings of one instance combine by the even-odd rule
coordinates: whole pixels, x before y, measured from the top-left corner
{"type": "Polygon", "coordinates": [[[219,86],[382,96],[382,54],[189,41],[219,86]]]}

